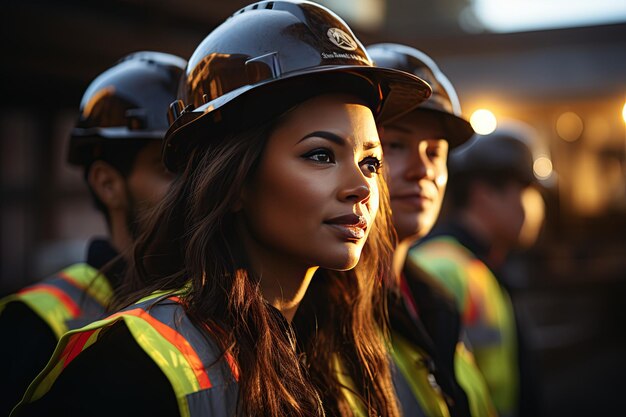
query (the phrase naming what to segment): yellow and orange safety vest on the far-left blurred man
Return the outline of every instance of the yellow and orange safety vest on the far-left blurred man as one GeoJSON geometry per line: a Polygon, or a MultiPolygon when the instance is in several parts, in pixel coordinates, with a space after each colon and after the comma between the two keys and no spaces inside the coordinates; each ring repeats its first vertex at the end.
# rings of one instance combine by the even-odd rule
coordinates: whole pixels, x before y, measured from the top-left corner
{"type": "Polygon", "coordinates": [[[24,303],[60,339],[68,330],[106,317],[112,296],[106,277],[88,264],[80,263],[3,298],[0,314],[9,303],[24,303]]]}

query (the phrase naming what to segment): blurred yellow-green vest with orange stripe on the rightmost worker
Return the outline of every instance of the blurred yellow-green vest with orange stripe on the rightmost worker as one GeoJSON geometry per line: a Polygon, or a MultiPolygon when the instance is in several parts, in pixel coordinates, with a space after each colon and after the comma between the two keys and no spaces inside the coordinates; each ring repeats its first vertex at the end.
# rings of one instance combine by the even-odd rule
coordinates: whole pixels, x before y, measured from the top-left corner
{"type": "Polygon", "coordinates": [[[519,368],[515,317],[508,294],[487,265],[453,237],[429,239],[412,249],[409,257],[455,297],[493,404],[500,416],[514,415],[519,368]]]}

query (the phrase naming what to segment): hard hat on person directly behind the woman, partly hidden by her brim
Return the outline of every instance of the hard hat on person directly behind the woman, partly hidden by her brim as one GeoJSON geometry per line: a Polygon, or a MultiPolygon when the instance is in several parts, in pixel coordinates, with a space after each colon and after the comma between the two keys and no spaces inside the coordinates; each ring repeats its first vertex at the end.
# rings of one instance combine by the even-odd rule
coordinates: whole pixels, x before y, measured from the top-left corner
{"type": "Polygon", "coordinates": [[[416,110],[432,111],[446,130],[450,148],[466,142],[474,134],[472,125],[461,116],[461,103],[452,83],[437,64],[424,52],[396,43],[379,43],[367,47],[379,67],[394,68],[416,75],[432,87],[433,94],[416,110]]]}

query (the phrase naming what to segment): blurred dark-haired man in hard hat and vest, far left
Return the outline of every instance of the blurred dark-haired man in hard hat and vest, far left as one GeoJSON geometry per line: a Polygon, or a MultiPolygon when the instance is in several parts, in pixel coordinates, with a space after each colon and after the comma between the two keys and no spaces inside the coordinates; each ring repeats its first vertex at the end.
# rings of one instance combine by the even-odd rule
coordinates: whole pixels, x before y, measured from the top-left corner
{"type": "Polygon", "coordinates": [[[0,333],[11,340],[0,346],[0,415],[20,400],[65,332],[106,315],[125,269],[124,261],[111,261],[130,247],[140,214],[162,199],[173,179],[161,162],[161,144],[184,66],[174,55],[137,52],[84,93],[68,162],[84,170],[109,237],[90,242],[85,263],[0,301],[0,333]],[[100,274],[107,264],[106,276],[100,274]]]}

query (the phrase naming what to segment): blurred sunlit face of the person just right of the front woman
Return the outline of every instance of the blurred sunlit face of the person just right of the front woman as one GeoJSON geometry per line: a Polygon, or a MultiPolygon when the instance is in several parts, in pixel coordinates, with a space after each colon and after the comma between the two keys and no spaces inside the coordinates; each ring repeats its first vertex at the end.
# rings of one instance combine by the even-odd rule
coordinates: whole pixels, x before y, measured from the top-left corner
{"type": "Polygon", "coordinates": [[[381,131],[393,225],[400,240],[435,224],[448,182],[448,142],[432,113],[415,111],[381,131]]]}

